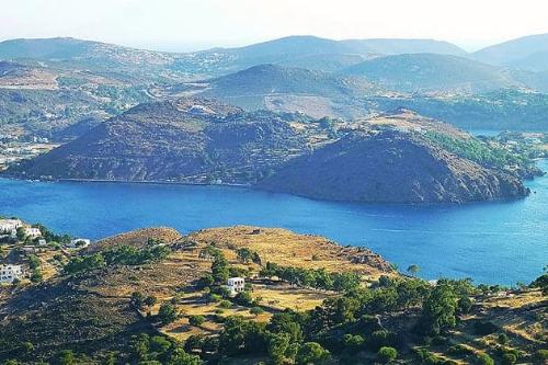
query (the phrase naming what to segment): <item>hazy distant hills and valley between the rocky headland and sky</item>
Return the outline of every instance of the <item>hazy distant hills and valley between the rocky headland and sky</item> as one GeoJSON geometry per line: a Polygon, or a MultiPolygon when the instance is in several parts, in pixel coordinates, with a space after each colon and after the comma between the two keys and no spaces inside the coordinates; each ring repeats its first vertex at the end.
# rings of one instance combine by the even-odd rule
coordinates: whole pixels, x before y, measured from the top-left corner
{"type": "Polygon", "coordinates": [[[406,106],[458,126],[547,129],[547,49],[548,35],[473,54],[433,39],[289,36],[185,54],[12,39],[0,43],[0,125],[72,138],[140,102],[201,94],[317,118],[406,106]],[[503,98],[491,103],[489,95],[503,98]]]}

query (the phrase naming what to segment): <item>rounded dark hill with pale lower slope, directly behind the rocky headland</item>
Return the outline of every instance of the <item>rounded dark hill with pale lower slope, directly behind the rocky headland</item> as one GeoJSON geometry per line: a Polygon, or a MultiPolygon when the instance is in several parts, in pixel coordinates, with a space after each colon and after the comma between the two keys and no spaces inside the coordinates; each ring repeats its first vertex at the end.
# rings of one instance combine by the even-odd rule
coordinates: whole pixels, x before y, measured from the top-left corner
{"type": "Polygon", "coordinates": [[[341,77],[323,71],[259,65],[202,82],[182,84],[175,92],[198,92],[248,110],[269,109],[301,112],[315,117],[351,115],[356,99],[374,95],[378,88],[363,78],[341,77]],[[292,110],[292,107],[295,107],[292,110]]]}

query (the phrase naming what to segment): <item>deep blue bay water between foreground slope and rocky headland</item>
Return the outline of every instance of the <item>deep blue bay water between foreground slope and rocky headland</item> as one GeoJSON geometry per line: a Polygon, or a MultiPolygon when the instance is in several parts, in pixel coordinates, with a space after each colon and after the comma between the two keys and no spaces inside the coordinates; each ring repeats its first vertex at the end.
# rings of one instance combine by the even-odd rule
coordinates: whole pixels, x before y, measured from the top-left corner
{"type": "MultiPolygon", "coordinates": [[[[548,161],[540,161],[548,170],[548,161]]],[[[284,227],[365,246],[424,278],[530,282],[548,264],[548,176],[526,199],[467,205],[319,202],[225,186],[27,182],[0,179],[0,215],[103,238],[140,227],[181,232],[231,225],[284,227]]],[[[281,248],[282,249],[282,248],[281,248]]]]}

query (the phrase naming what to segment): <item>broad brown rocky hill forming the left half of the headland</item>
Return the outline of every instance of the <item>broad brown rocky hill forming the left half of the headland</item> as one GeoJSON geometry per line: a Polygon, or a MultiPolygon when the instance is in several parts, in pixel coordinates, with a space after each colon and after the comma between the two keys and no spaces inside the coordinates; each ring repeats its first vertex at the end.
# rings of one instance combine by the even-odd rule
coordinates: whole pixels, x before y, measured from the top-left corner
{"type": "Polygon", "coordinates": [[[278,116],[185,99],[139,105],[13,172],[250,184],[305,148],[305,136],[278,116]]]}

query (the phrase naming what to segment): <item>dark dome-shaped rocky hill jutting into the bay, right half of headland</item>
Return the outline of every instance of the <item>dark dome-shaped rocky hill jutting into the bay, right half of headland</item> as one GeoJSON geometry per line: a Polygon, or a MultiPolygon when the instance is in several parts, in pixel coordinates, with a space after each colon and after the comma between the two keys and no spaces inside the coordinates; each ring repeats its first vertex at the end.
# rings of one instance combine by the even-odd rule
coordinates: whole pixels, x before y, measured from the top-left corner
{"type": "Polygon", "coordinates": [[[516,178],[395,130],[349,135],[292,160],[260,186],[354,202],[463,203],[526,195],[516,178]]]}

